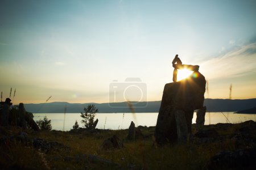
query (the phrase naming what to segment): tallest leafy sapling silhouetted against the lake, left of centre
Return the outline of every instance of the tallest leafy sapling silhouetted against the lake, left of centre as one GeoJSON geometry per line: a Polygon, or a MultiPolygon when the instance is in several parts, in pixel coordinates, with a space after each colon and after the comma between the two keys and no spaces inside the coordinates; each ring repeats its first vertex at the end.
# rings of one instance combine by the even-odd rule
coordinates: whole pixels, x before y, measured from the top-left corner
{"type": "Polygon", "coordinates": [[[98,112],[98,109],[96,109],[94,104],[89,104],[87,108],[84,108],[84,112],[81,112],[81,123],[84,124],[86,129],[91,129],[94,124],[94,117],[96,116],[96,113],[98,112]]]}

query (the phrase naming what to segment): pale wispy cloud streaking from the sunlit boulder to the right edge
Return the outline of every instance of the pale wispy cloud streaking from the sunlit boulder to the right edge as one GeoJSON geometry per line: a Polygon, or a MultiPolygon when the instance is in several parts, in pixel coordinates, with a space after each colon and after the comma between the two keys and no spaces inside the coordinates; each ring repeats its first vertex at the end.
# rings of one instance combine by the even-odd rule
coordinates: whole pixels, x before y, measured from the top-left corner
{"type": "Polygon", "coordinates": [[[201,63],[200,71],[207,79],[231,78],[256,73],[255,65],[256,43],[254,42],[201,63]]]}

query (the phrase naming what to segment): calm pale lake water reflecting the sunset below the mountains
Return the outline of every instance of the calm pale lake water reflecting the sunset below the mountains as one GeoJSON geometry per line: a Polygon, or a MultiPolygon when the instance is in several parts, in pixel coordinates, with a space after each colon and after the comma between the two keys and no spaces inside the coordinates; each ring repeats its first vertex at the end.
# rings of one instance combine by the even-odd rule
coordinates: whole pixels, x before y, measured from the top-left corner
{"type": "MultiPolygon", "coordinates": [[[[217,123],[239,123],[247,120],[256,121],[256,114],[234,114],[233,112],[211,112],[205,114],[205,125],[217,123]]],[[[80,113],[66,113],[64,122],[64,113],[34,113],[34,120],[43,119],[47,116],[51,120],[52,129],[54,130],[70,130],[75,121],[82,127],[80,113]],[[64,128],[63,128],[64,127],[64,128]]],[[[98,129],[127,129],[131,121],[135,126],[155,126],[158,113],[97,113],[98,129]]],[[[193,116],[193,124],[196,123],[196,113],[193,116]]]]}

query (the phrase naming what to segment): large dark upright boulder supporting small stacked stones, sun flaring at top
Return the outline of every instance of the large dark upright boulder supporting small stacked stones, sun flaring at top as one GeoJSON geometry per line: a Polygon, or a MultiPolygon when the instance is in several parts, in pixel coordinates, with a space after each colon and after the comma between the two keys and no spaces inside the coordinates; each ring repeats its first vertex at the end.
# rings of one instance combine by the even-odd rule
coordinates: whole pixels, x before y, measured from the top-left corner
{"type": "MultiPolygon", "coordinates": [[[[183,129],[181,125],[176,125],[175,113],[185,114],[181,117],[187,123],[187,133],[191,133],[193,112],[201,109],[204,103],[205,78],[199,71],[193,72],[191,76],[179,82],[167,83],[164,86],[162,103],[159,109],[158,120],[155,128],[155,139],[159,145],[177,141],[177,129],[183,129]]],[[[186,133],[186,131],[182,131],[186,133]]],[[[185,134],[179,134],[180,137],[185,134]]],[[[184,138],[184,137],[181,137],[184,138]]],[[[181,139],[182,140],[182,139],[181,139]]]]}

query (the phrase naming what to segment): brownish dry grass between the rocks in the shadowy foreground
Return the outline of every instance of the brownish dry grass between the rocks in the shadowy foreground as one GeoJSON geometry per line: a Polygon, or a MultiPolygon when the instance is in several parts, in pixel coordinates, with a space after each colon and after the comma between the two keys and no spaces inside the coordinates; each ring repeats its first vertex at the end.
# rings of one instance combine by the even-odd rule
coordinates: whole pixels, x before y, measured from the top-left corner
{"type": "MultiPolygon", "coordinates": [[[[243,124],[229,126],[195,126],[193,134],[199,129],[215,129],[222,136],[237,134],[243,124]]],[[[19,128],[0,127],[1,137],[22,131],[19,128]]],[[[28,142],[24,146],[20,142],[1,143],[0,167],[24,168],[24,169],[202,169],[205,168],[209,159],[219,151],[236,150],[243,146],[237,145],[231,138],[225,138],[210,142],[189,142],[184,145],[167,145],[156,148],[153,145],[152,135],[154,128],[142,129],[144,139],[127,141],[128,130],[101,130],[97,133],[71,133],[68,131],[40,131],[26,130],[30,138],[43,138],[46,141],[59,142],[70,147],[70,150],[52,150],[44,152],[36,150],[28,142]],[[102,142],[117,135],[124,139],[125,148],[121,150],[104,151],[100,149],[102,142]],[[64,159],[77,154],[97,155],[100,158],[111,160],[119,164],[102,164],[101,162],[71,161],[64,159]]],[[[255,133],[255,129],[253,131],[255,133]]]]}

